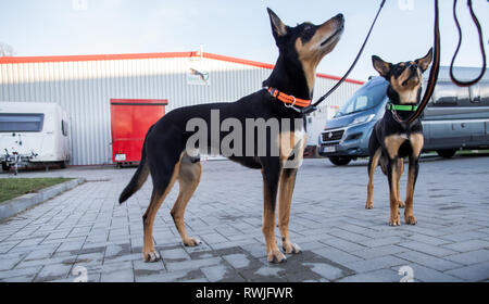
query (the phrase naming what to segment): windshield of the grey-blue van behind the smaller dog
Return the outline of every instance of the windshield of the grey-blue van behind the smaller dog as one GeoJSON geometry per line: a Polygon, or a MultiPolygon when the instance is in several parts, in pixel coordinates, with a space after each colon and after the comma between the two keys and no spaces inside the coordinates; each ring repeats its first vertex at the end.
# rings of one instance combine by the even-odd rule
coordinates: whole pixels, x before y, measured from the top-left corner
{"type": "Polygon", "coordinates": [[[335,117],[362,112],[377,106],[385,98],[388,83],[374,79],[360,88],[344,104],[335,117]]]}

